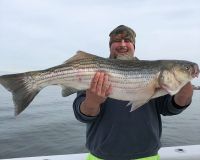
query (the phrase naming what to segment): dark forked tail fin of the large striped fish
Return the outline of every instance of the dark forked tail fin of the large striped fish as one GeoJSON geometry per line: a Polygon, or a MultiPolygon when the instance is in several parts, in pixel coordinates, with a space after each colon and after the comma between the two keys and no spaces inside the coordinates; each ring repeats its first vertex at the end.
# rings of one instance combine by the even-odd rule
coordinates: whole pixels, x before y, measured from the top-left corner
{"type": "Polygon", "coordinates": [[[41,90],[34,85],[30,72],[0,76],[0,84],[12,93],[15,116],[20,114],[41,90]]]}

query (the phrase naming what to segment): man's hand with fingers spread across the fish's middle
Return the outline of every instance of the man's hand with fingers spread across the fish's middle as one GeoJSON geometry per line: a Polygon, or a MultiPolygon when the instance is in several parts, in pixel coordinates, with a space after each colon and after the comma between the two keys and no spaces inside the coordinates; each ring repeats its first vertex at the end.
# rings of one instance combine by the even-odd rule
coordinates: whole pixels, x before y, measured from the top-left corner
{"type": "Polygon", "coordinates": [[[81,104],[80,110],[88,116],[96,116],[100,111],[100,105],[111,93],[111,84],[107,74],[97,72],[91,81],[90,88],[86,90],[86,98],[81,104]]]}

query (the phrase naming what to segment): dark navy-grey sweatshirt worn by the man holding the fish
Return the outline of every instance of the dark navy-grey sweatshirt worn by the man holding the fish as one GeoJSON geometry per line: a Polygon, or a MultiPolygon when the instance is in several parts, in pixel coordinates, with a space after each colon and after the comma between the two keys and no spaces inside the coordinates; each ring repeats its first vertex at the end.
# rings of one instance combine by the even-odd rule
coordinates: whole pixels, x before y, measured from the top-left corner
{"type": "Polygon", "coordinates": [[[130,160],[153,156],[161,147],[162,115],[176,115],[187,106],[175,104],[165,95],[130,112],[127,101],[107,98],[95,117],[80,112],[85,92],[73,103],[76,118],[87,124],[86,147],[94,156],[105,160],[130,160]]]}

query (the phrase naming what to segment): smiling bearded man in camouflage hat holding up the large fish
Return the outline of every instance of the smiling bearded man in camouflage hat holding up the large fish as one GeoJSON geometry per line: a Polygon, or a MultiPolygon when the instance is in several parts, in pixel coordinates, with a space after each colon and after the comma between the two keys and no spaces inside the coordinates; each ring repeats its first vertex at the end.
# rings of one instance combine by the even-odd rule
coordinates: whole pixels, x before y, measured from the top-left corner
{"type": "MultiPolygon", "coordinates": [[[[120,25],[110,33],[110,58],[129,59],[135,52],[135,32],[120,25]]],[[[88,160],[158,160],[162,132],[161,114],[176,115],[191,103],[193,89],[186,84],[175,96],[150,100],[129,112],[125,101],[109,98],[112,84],[97,72],[91,87],[78,93],[73,108],[76,118],[87,124],[88,160]]]]}

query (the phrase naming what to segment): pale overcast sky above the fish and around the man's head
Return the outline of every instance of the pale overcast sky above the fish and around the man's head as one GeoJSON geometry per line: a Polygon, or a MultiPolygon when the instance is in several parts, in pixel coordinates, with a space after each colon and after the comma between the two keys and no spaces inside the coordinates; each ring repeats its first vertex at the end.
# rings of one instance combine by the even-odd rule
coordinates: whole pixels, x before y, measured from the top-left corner
{"type": "Polygon", "coordinates": [[[0,0],[0,71],[45,69],[77,50],[108,57],[121,24],[136,31],[140,59],[200,65],[199,0],[0,0]]]}

